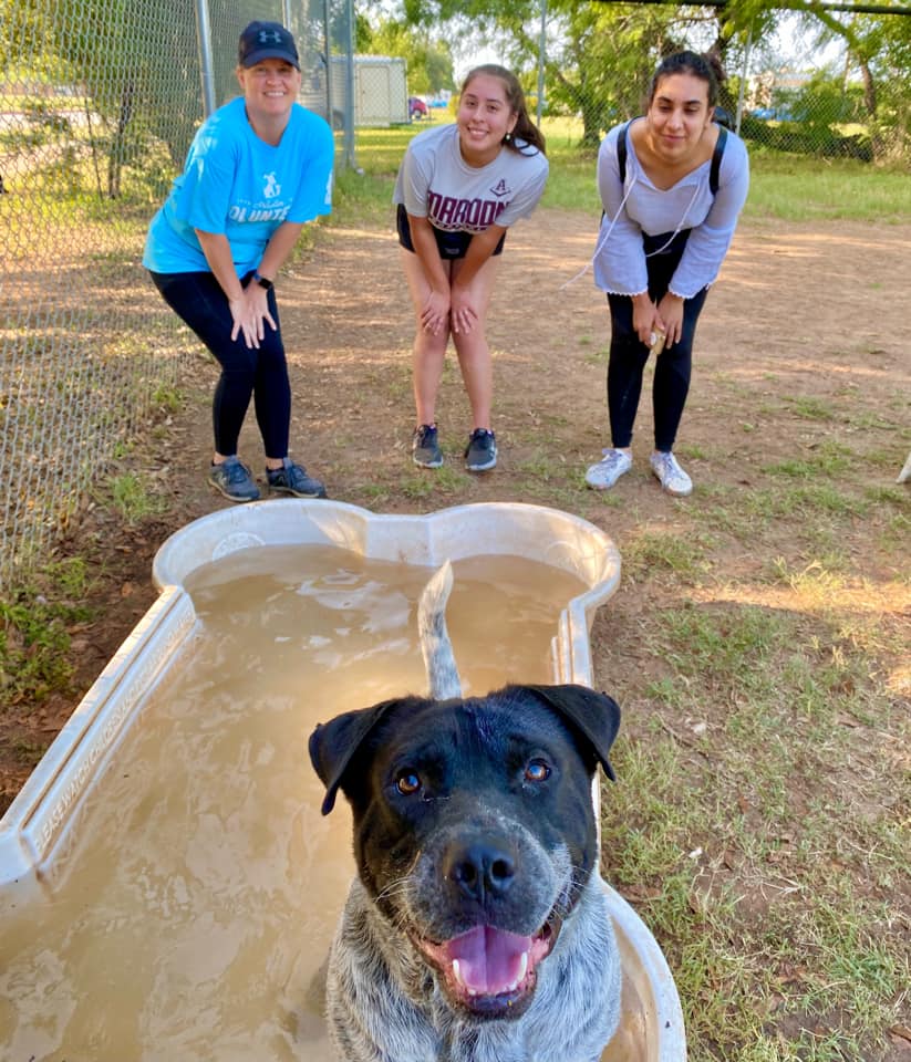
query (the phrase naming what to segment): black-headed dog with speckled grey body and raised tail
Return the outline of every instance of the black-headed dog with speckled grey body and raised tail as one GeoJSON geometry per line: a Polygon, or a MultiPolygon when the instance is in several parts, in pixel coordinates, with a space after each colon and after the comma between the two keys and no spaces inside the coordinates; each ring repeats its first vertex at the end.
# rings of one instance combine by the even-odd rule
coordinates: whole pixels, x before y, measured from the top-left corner
{"type": "Polygon", "coordinates": [[[418,628],[431,696],[317,727],[354,815],[358,877],[327,978],[344,1062],[596,1062],[620,1013],[592,780],[620,709],[584,686],[463,698],[448,563],[418,628]]]}

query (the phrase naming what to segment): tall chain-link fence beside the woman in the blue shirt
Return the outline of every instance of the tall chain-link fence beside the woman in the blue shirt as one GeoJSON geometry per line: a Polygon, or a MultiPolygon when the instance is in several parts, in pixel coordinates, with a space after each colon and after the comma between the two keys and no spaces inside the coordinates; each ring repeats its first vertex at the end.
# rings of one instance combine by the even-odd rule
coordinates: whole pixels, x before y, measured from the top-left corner
{"type": "Polygon", "coordinates": [[[346,18],[324,0],[0,0],[0,590],[194,371],[199,344],[141,260],[204,90],[236,94],[252,19],[286,22],[319,83],[346,18]]]}

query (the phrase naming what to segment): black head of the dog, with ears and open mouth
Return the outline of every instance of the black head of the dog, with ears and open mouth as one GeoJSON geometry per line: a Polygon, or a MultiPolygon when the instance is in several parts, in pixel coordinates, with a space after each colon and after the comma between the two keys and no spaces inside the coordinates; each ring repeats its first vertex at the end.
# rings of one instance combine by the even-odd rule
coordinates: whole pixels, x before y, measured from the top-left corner
{"type": "Polygon", "coordinates": [[[451,1004],[518,1017],[594,868],[591,779],[619,726],[581,686],[405,698],[339,716],[310,740],[328,813],[342,789],[358,872],[451,1004]]]}

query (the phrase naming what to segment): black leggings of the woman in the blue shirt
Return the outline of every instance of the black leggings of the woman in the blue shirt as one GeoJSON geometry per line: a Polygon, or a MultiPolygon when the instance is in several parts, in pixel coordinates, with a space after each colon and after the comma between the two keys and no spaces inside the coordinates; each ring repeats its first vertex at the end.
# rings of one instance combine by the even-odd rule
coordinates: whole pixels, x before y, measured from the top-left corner
{"type": "MultiPolygon", "coordinates": [[[[291,425],[291,384],[281,330],[266,325],[259,350],[249,348],[244,335],[231,341],[228,299],[213,273],[152,273],[165,302],[188,324],[221,366],[213,398],[215,449],[225,457],[237,454],[240,428],[250,398],[267,457],[288,456],[291,425]]],[[[244,278],[244,284],[249,278],[244,278]]],[[[268,292],[269,313],[279,324],[275,290],[268,292]]]]}

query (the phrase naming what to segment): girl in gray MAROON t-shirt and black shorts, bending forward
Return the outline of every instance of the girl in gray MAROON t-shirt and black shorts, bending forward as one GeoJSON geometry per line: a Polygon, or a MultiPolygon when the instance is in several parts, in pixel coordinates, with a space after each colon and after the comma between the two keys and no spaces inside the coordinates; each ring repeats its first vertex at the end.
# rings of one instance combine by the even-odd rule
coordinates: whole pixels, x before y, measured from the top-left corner
{"type": "Polygon", "coordinates": [[[474,472],[497,464],[490,426],[494,374],[485,324],[506,230],[538,204],[547,180],[544,136],[531,122],[516,76],[488,64],[462,86],[454,125],[420,133],[398,170],[401,258],[417,331],[412,458],[439,468],[436,395],[449,336],[472,406],[465,450],[474,472]]]}

